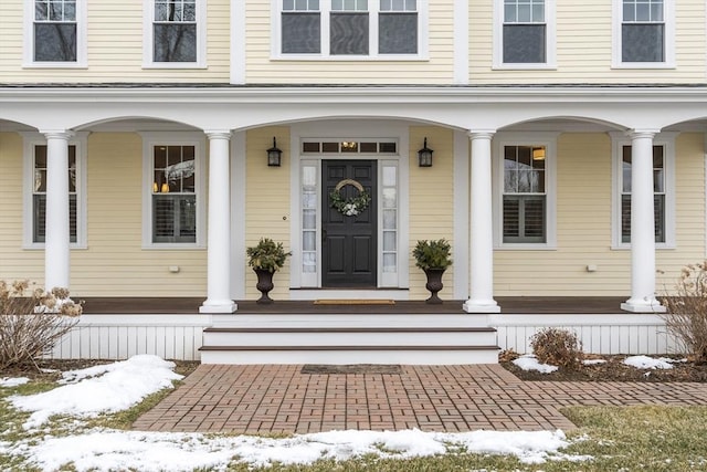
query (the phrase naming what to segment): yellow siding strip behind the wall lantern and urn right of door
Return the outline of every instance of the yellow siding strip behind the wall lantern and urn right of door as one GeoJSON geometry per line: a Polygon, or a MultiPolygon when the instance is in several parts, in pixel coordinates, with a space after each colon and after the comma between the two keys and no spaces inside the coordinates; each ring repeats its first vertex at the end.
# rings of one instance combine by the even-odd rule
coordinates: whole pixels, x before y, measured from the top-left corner
{"type": "MultiPolygon", "coordinates": [[[[437,127],[410,128],[410,250],[418,240],[444,238],[454,244],[454,136],[452,130],[437,127]],[[424,137],[434,149],[432,167],[419,167],[418,149],[424,137]]],[[[401,254],[405,256],[405,254],[401,254]]],[[[423,300],[430,296],[424,287],[424,272],[415,266],[415,260],[408,254],[410,268],[410,298],[423,300]]],[[[454,253],[452,253],[454,261],[454,253]]],[[[440,292],[442,298],[452,297],[454,264],[446,272],[440,292]]]]}

